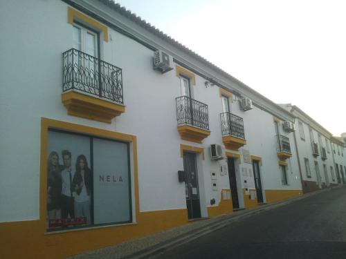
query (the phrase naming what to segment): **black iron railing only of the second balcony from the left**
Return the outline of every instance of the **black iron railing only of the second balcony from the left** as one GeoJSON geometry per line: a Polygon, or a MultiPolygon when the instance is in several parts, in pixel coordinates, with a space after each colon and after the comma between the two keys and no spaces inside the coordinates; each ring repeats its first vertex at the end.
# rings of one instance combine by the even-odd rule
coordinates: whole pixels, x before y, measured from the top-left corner
{"type": "Polygon", "coordinates": [[[209,131],[208,105],[188,96],[176,97],[178,125],[190,124],[209,131]]]}

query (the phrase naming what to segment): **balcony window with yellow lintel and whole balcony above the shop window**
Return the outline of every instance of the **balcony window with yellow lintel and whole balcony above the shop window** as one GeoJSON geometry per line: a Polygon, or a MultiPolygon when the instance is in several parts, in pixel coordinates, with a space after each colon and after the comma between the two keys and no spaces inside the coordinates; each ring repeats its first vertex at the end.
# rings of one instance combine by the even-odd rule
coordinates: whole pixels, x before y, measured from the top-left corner
{"type": "Polygon", "coordinates": [[[125,106],[121,68],[100,59],[107,27],[72,8],[68,16],[72,48],[62,53],[62,102],[69,115],[111,123],[125,106]]]}

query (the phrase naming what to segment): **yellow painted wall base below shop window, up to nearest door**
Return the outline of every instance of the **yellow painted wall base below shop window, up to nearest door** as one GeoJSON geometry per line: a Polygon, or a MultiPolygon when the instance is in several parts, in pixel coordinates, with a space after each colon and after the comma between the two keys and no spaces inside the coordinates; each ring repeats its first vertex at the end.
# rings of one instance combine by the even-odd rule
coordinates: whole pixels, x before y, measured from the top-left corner
{"type": "Polygon", "coordinates": [[[46,225],[44,220],[0,223],[0,258],[66,258],[187,224],[188,211],[140,212],[137,221],[138,224],[49,235],[39,231],[46,225]]]}

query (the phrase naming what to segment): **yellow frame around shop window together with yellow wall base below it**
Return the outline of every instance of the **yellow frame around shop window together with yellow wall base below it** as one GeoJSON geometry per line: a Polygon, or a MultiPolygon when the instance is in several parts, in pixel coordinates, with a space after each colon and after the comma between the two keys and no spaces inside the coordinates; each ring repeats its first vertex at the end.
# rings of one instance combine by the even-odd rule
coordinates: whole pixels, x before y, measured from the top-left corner
{"type": "Polygon", "coordinates": [[[187,224],[187,209],[139,212],[137,161],[137,141],[134,135],[42,118],[39,220],[0,223],[0,258],[67,258],[78,253],[109,247],[113,244],[187,224]],[[133,213],[136,213],[136,223],[122,226],[79,229],[78,231],[71,230],[64,233],[52,233],[50,235],[45,234],[47,227],[46,161],[48,155],[48,128],[57,128],[132,143],[134,161],[133,202],[135,204],[133,213]],[[155,224],[152,224],[153,221],[155,221],[155,224]],[[78,242],[75,242],[75,240],[78,240],[78,242]],[[18,244],[21,244],[21,249],[18,249],[18,244]],[[73,245],[66,246],[66,244],[73,245]]]}

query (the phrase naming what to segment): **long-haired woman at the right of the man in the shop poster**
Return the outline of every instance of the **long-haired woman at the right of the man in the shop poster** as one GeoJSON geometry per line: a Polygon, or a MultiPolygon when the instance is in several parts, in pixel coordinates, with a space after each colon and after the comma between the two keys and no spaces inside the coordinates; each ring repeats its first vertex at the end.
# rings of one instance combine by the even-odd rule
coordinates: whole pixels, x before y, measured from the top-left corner
{"type": "Polygon", "coordinates": [[[85,155],[77,157],[72,189],[75,191],[75,218],[85,217],[86,224],[90,224],[91,171],[85,155]]]}

